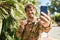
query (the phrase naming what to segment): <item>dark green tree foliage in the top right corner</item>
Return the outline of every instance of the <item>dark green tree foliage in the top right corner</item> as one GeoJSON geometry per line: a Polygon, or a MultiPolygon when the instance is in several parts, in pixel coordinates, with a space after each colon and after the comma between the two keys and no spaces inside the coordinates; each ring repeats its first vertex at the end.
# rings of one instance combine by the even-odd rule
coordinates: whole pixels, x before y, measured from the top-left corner
{"type": "Polygon", "coordinates": [[[51,13],[54,13],[55,11],[60,12],[60,1],[59,0],[54,0],[51,3],[50,11],[51,13]]]}

